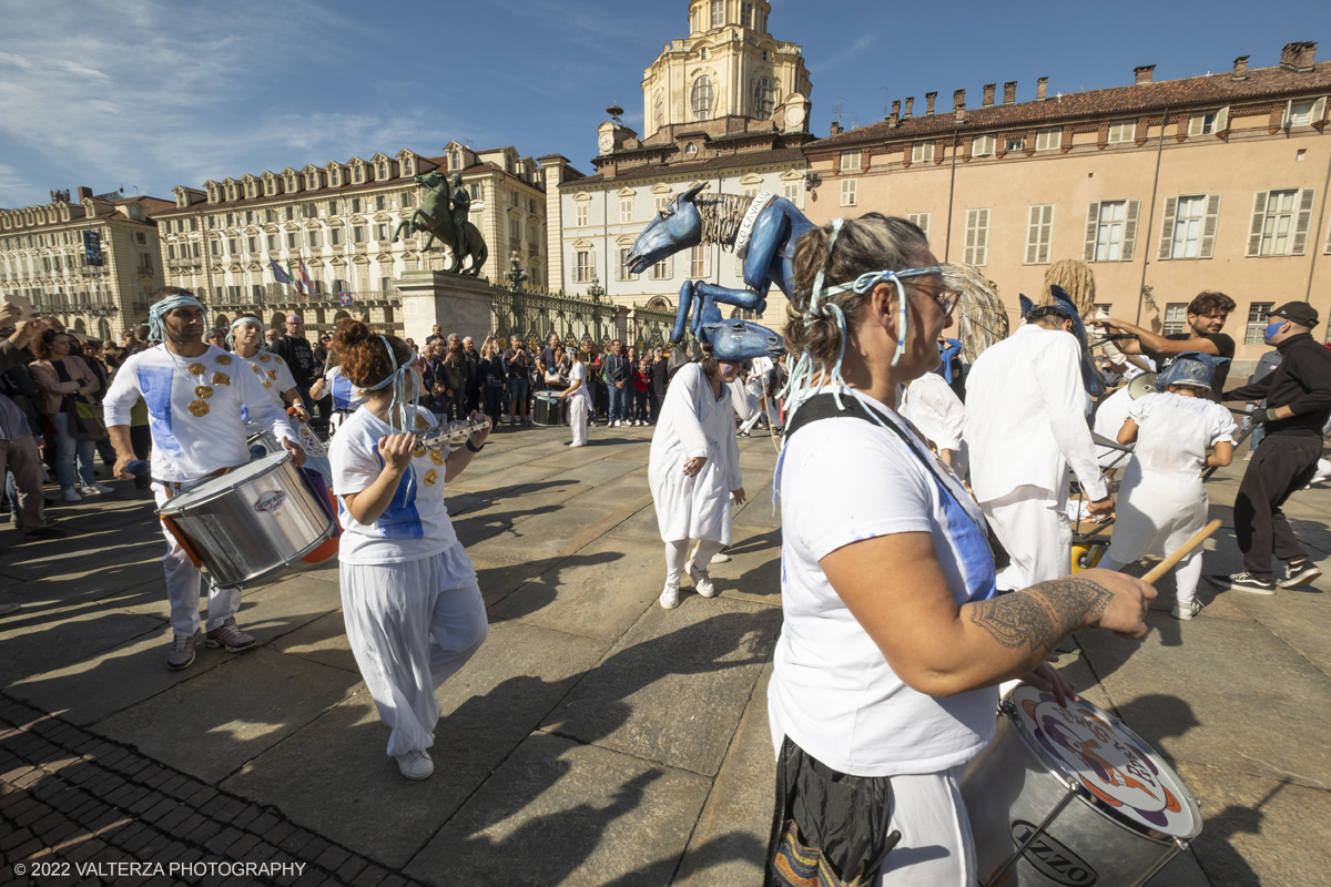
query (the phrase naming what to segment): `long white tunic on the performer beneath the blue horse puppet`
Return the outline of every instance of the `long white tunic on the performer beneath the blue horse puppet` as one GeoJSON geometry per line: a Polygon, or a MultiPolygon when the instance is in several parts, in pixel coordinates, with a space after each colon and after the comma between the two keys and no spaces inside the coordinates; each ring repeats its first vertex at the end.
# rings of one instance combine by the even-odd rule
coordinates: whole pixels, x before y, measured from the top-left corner
{"type": "Polygon", "coordinates": [[[728,387],[715,398],[696,363],[671,380],[647,467],[662,541],[731,544],[731,491],[743,487],[732,410],[728,387]],[[684,463],[696,456],[705,456],[707,464],[696,476],[684,476],[684,463]]]}

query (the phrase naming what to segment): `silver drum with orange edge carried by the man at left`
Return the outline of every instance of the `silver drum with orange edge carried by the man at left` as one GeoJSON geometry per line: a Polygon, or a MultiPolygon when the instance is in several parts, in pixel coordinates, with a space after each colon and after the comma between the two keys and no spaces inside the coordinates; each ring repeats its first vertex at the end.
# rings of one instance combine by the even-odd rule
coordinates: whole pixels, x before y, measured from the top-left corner
{"type": "Polygon", "coordinates": [[[311,492],[286,451],[174,496],[157,513],[222,588],[294,564],[334,531],[327,500],[311,492]]]}

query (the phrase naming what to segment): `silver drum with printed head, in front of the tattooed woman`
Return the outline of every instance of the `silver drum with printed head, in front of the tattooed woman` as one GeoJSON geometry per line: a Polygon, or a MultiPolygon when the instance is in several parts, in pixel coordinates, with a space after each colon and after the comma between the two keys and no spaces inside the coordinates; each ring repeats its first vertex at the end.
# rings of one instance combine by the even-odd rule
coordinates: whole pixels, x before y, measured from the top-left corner
{"type": "Polygon", "coordinates": [[[1016,688],[961,781],[980,883],[1145,884],[1202,832],[1197,799],[1111,714],[1016,688]]]}

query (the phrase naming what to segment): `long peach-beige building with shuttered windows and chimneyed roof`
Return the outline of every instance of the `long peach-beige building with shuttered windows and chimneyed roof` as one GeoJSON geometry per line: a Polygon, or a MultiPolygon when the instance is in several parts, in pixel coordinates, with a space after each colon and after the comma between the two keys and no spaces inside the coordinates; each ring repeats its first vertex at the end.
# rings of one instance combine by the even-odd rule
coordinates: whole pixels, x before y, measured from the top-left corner
{"type": "MultiPolygon", "coordinates": [[[[1290,44],[1282,64],[924,114],[913,100],[878,124],[805,148],[815,222],[881,211],[924,227],[942,261],[980,266],[1009,314],[1041,295],[1051,262],[1085,259],[1099,306],[1166,332],[1202,290],[1238,309],[1235,360],[1255,360],[1271,307],[1308,298],[1331,330],[1331,63],[1290,44]]],[[[1242,371],[1242,368],[1240,368],[1242,371]]]]}

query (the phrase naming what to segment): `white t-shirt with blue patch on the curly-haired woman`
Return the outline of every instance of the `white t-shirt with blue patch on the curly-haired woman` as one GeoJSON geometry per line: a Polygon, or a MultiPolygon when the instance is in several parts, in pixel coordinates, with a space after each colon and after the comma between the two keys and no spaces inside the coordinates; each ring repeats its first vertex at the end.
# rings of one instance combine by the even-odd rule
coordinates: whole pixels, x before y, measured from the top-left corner
{"type": "MultiPolygon", "coordinates": [[[[433,428],[434,415],[417,408],[417,427],[433,428]]],[[[338,493],[343,564],[402,564],[431,557],[458,541],[443,504],[443,460],[450,449],[418,449],[398,480],[393,501],[373,524],[361,524],[346,507],[346,495],[358,493],[383,471],[379,438],[393,428],[369,410],[357,410],[333,438],[333,488],[338,493]]]]}

